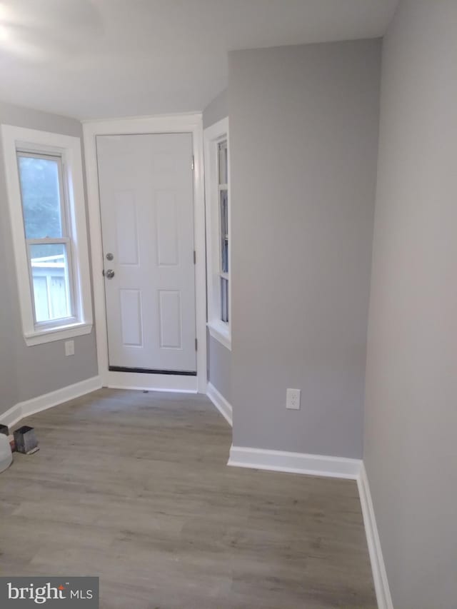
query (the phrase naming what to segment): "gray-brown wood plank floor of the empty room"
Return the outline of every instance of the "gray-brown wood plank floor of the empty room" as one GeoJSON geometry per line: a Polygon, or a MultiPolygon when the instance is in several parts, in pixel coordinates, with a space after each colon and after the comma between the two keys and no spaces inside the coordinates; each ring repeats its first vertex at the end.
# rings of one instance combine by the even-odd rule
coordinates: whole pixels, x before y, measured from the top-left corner
{"type": "Polygon", "coordinates": [[[376,608],[356,483],[227,467],[206,397],[101,389],[24,423],[1,575],[98,575],[104,609],[376,608]]]}

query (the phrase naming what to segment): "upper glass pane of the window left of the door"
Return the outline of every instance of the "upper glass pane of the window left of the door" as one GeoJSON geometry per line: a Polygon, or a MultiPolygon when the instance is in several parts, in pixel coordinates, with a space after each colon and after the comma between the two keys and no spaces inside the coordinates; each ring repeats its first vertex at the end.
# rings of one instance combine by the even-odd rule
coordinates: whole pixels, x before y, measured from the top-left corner
{"type": "Polygon", "coordinates": [[[27,239],[62,236],[59,160],[18,154],[27,239]]]}

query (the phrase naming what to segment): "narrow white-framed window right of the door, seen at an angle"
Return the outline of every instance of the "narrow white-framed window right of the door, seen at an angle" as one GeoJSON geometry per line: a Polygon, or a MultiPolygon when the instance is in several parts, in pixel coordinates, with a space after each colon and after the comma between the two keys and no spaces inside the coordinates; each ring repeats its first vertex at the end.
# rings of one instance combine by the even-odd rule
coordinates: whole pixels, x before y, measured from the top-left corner
{"type": "Polygon", "coordinates": [[[231,348],[229,121],[204,131],[208,328],[231,348]]]}

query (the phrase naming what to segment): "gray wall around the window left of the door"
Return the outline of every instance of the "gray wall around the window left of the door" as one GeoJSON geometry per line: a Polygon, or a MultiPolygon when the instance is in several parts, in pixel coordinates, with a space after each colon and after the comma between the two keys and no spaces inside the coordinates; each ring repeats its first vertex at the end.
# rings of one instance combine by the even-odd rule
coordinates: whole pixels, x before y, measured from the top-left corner
{"type": "MultiPolygon", "coordinates": [[[[0,103],[0,123],[80,137],[79,121],[0,103]]],[[[3,151],[0,147],[0,413],[19,401],[55,391],[97,374],[95,333],[77,336],[75,355],[63,341],[27,347],[21,331],[3,151]]]]}

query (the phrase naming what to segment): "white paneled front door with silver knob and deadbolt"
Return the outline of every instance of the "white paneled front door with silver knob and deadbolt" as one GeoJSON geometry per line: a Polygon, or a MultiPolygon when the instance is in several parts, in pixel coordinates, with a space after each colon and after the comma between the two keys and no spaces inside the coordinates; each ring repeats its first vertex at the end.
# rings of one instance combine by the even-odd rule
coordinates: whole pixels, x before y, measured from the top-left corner
{"type": "Polygon", "coordinates": [[[196,374],[191,134],[96,137],[111,371],[196,374]]]}

